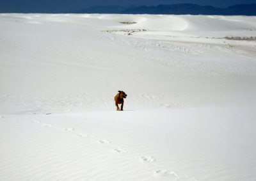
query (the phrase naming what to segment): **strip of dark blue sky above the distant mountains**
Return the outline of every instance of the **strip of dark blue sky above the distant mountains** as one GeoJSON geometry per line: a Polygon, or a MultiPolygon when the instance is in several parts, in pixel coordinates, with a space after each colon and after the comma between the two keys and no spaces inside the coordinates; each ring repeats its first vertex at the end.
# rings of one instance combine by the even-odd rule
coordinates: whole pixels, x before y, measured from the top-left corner
{"type": "Polygon", "coordinates": [[[13,12],[19,12],[20,10],[34,10],[36,12],[37,10],[47,10],[47,12],[51,12],[54,10],[78,10],[90,6],[129,6],[131,4],[155,6],[158,4],[180,3],[211,5],[225,8],[235,4],[256,3],[256,0],[0,0],[0,11],[12,10],[13,12]]]}

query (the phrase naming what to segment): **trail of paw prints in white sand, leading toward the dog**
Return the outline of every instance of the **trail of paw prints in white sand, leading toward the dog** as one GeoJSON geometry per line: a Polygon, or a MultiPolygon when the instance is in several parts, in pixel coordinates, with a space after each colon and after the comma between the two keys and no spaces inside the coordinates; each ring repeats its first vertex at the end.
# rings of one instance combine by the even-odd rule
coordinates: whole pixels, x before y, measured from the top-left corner
{"type": "MultiPolygon", "coordinates": [[[[37,123],[39,125],[41,125],[42,127],[52,127],[54,129],[57,130],[62,130],[65,132],[72,132],[75,129],[73,128],[60,128],[60,127],[54,127],[51,124],[48,123],[42,123],[38,120],[33,120],[33,123],[37,123]]],[[[100,139],[100,140],[96,140],[91,138],[90,136],[88,136],[88,134],[84,134],[82,132],[76,132],[73,135],[75,138],[87,138],[90,139],[90,141],[93,141],[94,143],[98,143],[98,144],[102,144],[102,145],[111,145],[111,146],[115,146],[115,148],[112,150],[112,152],[115,153],[129,153],[132,154],[131,152],[129,152],[129,150],[127,150],[126,148],[121,148],[120,146],[114,145],[110,140],[108,139],[100,139]]],[[[161,166],[157,165],[156,159],[150,155],[148,156],[141,156],[140,158],[137,158],[137,161],[140,162],[141,164],[154,164],[154,166],[156,166],[159,169],[156,169],[156,171],[154,171],[153,175],[154,177],[168,177],[168,180],[184,180],[184,181],[198,181],[196,179],[191,179],[188,176],[184,176],[184,175],[178,175],[177,173],[175,173],[174,171],[170,171],[170,169],[164,169],[161,166]]]]}

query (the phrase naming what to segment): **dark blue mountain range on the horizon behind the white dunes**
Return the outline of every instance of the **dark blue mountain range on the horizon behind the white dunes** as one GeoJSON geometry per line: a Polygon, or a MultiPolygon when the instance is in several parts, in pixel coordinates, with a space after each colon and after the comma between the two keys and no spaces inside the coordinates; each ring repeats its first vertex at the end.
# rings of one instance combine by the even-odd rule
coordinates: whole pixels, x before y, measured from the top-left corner
{"type": "Polygon", "coordinates": [[[169,15],[256,15],[256,4],[237,4],[228,8],[200,6],[197,4],[171,4],[158,6],[93,6],[71,13],[122,13],[169,15]]]}

